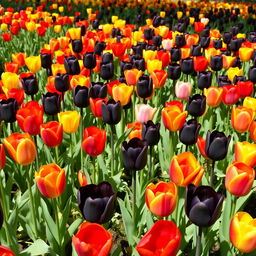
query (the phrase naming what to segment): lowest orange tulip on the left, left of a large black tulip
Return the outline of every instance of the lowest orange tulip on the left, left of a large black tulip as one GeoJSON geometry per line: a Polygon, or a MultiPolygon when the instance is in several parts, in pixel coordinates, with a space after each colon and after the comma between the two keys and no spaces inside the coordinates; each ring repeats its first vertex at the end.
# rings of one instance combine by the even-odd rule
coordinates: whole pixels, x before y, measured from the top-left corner
{"type": "Polygon", "coordinates": [[[65,170],[54,163],[41,166],[35,172],[35,180],[39,191],[47,198],[61,196],[66,187],[65,170]]]}

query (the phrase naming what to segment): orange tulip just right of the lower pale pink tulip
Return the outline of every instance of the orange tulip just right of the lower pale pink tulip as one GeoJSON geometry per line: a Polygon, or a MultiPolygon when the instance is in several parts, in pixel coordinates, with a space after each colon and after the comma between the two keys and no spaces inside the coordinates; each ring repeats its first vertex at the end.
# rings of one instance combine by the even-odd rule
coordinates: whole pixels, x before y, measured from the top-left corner
{"type": "Polygon", "coordinates": [[[165,107],[162,110],[162,120],[164,126],[169,131],[175,132],[182,128],[184,125],[188,112],[183,111],[176,105],[165,107]]]}

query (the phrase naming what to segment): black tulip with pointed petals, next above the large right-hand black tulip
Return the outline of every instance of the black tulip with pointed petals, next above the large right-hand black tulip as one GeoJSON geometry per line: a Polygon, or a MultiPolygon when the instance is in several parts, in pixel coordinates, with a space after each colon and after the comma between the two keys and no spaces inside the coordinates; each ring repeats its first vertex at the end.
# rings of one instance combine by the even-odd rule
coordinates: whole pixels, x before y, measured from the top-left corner
{"type": "Polygon", "coordinates": [[[226,137],[223,132],[207,132],[205,152],[213,161],[219,161],[226,157],[231,136],[226,137]]]}

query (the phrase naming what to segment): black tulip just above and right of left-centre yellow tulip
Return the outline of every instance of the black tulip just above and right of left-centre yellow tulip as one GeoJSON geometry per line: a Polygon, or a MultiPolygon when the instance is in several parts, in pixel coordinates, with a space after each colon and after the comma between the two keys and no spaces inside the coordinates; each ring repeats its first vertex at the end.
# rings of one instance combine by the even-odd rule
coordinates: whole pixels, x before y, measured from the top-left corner
{"type": "Polygon", "coordinates": [[[78,108],[86,108],[89,106],[89,88],[77,85],[72,89],[74,104],[78,108]]]}

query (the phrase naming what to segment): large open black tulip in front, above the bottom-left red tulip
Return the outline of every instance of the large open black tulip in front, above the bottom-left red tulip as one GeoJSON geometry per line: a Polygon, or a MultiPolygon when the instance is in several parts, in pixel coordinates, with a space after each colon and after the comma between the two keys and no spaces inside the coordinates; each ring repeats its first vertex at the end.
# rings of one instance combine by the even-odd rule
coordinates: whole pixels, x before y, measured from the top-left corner
{"type": "Polygon", "coordinates": [[[116,194],[106,181],[80,187],[77,199],[79,209],[87,221],[103,224],[114,214],[116,194]]]}

